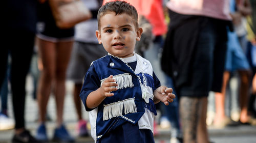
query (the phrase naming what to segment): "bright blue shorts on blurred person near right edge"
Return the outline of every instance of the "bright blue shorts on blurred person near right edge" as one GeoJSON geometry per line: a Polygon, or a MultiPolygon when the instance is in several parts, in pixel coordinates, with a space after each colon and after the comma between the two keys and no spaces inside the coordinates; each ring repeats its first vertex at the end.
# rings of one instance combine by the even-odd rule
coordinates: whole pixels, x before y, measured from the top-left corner
{"type": "Polygon", "coordinates": [[[235,32],[228,31],[225,70],[248,70],[249,68],[249,63],[243,49],[240,46],[237,34],[235,32]]]}

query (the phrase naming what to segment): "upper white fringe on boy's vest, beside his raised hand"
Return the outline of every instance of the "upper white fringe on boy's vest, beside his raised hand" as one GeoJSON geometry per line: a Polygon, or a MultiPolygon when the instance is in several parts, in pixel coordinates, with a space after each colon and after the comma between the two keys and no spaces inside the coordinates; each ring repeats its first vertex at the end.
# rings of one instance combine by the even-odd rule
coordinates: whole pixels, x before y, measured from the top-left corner
{"type": "MultiPolygon", "coordinates": [[[[132,88],[134,86],[132,75],[130,75],[129,73],[118,74],[113,76],[113,78],[116,79],[116,83],[118,84],[118,87],[112,87],[112,88],[123,89],[123,88],[132,88]]],[[[101,81],[100,87],[105,80],[106,78],[100,80],[101,81]]]]}

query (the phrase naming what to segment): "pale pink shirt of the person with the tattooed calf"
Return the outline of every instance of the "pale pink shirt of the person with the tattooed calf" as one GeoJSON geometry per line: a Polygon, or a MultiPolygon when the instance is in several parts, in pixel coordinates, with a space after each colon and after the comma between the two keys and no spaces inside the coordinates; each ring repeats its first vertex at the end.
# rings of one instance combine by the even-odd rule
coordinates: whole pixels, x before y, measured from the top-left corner
{"type": "Polygon", "coordinates": [[[231,20],[229,0],[170,0],[166,6],[179,14],[231,20]]]}

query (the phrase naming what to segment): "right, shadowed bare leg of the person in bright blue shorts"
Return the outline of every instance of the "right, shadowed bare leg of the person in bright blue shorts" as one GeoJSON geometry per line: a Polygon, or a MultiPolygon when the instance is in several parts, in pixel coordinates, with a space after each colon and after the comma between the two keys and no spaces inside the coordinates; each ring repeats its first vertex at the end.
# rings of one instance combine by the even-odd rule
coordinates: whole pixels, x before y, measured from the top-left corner
{"type": "Polygon", "coordinates": [[[248,96],[249,96],[249,78],[250,72],[248,70],[239,71],[240,74],[240,93],[239,93],[239,101],[240,101],[240,121],[242,123],[246,123],[249,120],[248,117],[248,96]]]}

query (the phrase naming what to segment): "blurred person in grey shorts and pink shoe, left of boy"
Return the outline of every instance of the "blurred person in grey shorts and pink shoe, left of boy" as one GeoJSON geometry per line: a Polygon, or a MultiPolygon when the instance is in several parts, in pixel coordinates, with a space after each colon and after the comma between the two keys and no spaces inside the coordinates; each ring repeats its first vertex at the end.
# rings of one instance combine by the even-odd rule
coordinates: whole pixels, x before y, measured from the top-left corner
{"type": "Polygon", "coordinates": [[[78,118],[76,127],[77,134],[78,136],[88,136],[87,121],[82,118],[79,94],[82,88],[83,77],[91,63],[106,55],[107,52],[102,45],[98,44],[98,40],[95,36],[95,31],[98,30],[98,9],[102,1],[82,0],[82,2],[91,10],[93,17],[75,26],[75,42],[67,70],[67,79],[74,82],[73,97],[78,118]]]}

